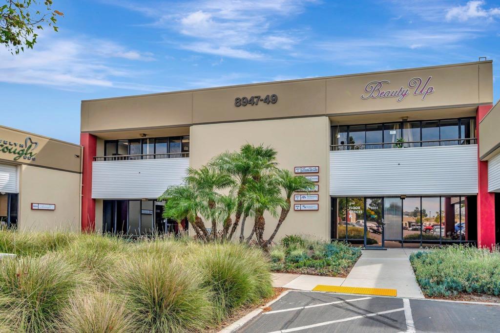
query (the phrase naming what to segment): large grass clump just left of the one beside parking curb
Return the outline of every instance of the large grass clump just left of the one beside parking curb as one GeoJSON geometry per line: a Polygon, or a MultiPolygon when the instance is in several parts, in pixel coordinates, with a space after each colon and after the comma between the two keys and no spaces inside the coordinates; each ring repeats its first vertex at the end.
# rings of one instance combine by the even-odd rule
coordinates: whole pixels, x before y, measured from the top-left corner
{"type": "Polygon", "coordinates": [[[199,270],[180,258],[133,253],[116,262],[109,280],[147,332],[192,332],[212,322],[210,291],[199,270]]]}

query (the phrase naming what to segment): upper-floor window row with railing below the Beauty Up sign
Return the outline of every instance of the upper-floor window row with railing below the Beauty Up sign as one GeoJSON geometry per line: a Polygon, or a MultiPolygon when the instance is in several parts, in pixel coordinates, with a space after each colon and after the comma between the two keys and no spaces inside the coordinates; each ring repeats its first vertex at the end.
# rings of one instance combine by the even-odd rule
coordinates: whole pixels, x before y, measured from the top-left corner
{"type": "Polygon", "coordinates": [[[331,150],[475,144],[475,118],[331,126],[331,150]]]}

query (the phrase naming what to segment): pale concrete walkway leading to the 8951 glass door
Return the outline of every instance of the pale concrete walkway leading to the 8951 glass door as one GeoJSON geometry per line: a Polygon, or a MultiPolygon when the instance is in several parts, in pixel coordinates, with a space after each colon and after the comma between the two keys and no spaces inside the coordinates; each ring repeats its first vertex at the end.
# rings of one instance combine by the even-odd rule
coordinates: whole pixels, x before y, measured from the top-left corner
{"type": "Polygon", "coordinates": [[[398,297],[424,298],[416,283],[409,255],[418,249],[362,250],[347,278],[273,274],[273,286],[312,290],[318,284],[396,289],[398,297]]]}

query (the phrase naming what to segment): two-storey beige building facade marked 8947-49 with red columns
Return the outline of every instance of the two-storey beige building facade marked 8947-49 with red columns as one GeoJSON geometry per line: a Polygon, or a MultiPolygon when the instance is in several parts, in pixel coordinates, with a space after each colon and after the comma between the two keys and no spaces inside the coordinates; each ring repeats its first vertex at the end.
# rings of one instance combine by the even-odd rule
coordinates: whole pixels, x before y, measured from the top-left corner
{"type": "Polygon", "coordinates": [[[492,102],[491,61],[82,101],[82,228],[177,230],[155,199],[188,166],[263,143],[316,184],[278,239],[491,246],[492,102]]]}

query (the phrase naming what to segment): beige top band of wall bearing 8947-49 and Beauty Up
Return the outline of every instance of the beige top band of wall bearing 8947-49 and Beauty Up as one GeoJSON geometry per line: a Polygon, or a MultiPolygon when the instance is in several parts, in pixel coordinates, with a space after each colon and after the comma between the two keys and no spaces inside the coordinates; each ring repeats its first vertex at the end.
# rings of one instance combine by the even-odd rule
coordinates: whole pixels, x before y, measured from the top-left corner
{"type": "Polygon", "coordinates": [[[396,71],[270,82],[81,102],[81,131],[99,133],[126,129],[157,129],[217,122],[306,116],[338,116],[477,106],[492,103],[491,61],[396,71]],[[434,93],[422,100],[408,87],[420,77],[434,93]],[[361,99],[373,80],[387,80],[382,90],[409,88],[396,98],[361,99]],[[236,107],[236,97],[276,94],[275,104],[236,107]]]}

